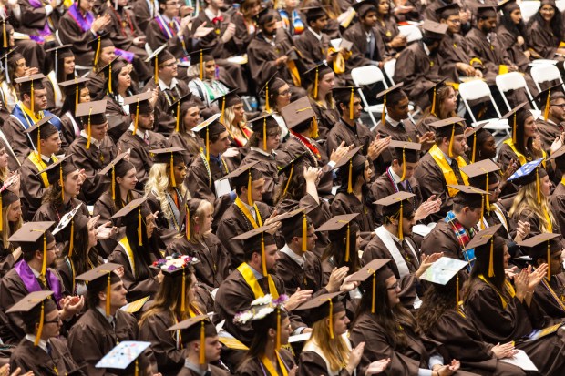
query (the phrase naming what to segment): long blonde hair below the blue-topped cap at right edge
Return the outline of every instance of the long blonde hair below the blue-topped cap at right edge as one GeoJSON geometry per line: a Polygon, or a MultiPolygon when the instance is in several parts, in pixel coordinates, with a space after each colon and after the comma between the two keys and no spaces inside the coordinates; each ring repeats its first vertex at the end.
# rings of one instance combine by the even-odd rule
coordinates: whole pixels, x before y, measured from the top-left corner
{"type": "Polygon", "coordinates": [[[540,195],[541,204],[538,204],[538,190],[535,181],[519,188],[518,194],[516,198],[514,198],[512,208],[510,208],[508,214],[511,218],[518,219],[524,210],[531,210],[539,220],[539,230],[541,232],[548,232],[550,223],[548,223],[546,219],[546,213],[551,223],[555,223],[555,218],[548,205],[548,198],[541,193],[540,195]]]}

